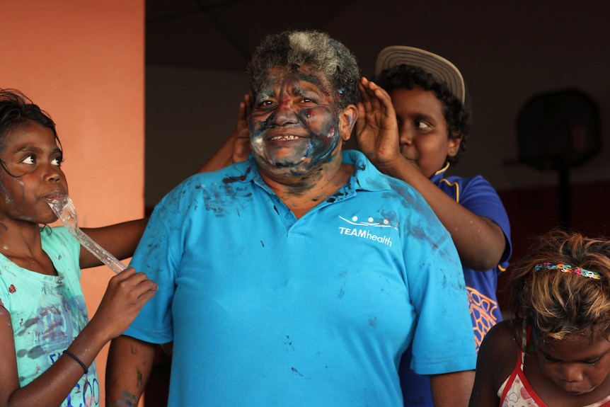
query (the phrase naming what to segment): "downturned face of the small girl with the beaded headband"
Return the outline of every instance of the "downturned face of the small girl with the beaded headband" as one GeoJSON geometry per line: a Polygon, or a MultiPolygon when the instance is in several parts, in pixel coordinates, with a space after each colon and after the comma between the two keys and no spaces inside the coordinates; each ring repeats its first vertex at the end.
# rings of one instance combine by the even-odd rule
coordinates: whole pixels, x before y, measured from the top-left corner
{"type": "Polygon", "coordinates": [[[542,374],[569,395],[586,394],[610,379],[610,341],[597,334],[542,341],[534,331],[542,374]]]}

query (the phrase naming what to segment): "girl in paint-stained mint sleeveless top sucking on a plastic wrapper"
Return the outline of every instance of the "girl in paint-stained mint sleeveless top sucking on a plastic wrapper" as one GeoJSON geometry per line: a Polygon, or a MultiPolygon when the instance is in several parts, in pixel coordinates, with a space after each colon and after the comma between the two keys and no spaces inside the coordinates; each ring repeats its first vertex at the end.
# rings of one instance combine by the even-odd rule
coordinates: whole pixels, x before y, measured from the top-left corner
{"type": "MultiPolygon", "coordinates": [[[[156,290],[124,270],[88,321],[81,268],[102,263],[65,227],[47,226],[57,221],[48,201],[68,193],[63,157],[49,115],[0,89],[0,406],[99,406],[93,360],[156,290]]],[[[122,259],[145,222],[83,230],[122,259]]]]}

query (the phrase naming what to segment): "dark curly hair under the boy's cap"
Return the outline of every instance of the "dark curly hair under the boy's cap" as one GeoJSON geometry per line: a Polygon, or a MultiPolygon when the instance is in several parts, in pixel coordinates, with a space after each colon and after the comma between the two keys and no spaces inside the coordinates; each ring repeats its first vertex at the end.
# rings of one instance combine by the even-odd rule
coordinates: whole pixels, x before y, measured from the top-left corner
{"type": "Polygon", "coordinates": [[[437,81],[430,72],[408,64],[384,69],[374,78],[374,81],[388,92],[400,88],[422,88],[434,93],[443,105],[443,115],[447,122],[447,137],[449,139],[459,139],[461,137],[457,154],[453,157],[447,157],[449,164],[455,165],[458,163],[461,155],[466,151],[466,142],[472,126],[471,112],[461,103],[459,98],[451,93],[446,84],[437,81]]]}

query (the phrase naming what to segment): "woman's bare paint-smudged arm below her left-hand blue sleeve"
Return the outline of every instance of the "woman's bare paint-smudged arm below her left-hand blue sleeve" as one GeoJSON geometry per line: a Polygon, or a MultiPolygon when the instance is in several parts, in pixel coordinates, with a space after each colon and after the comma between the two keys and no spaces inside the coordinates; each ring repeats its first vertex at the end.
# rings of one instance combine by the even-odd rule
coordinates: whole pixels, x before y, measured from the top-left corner
{"type": "Polygon", "coordinates": [[[130,336],[110,343],[106,367],[106,406],[132,407],[144,393],[156,345],[130,336]]]}

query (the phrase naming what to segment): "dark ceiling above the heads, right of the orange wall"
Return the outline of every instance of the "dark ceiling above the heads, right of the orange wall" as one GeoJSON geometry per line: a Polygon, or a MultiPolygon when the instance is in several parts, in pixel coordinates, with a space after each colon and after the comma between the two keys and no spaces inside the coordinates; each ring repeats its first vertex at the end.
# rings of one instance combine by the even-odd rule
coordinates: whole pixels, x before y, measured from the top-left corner
{"type": "MultiPolygon", "coordinates": [[[[555,0],[145,0],[146,64],[243,72],[265,35],[320,30],[355,53],[363,74],[388,45],[451,60],[468,78],[514,61],[579,57],[605,45],[604,2],[555,0]],[[479,72],[481,71],[481,72],[479,72]]],[[[597,51],[596,51],[597,52],[597,51]]]]}

